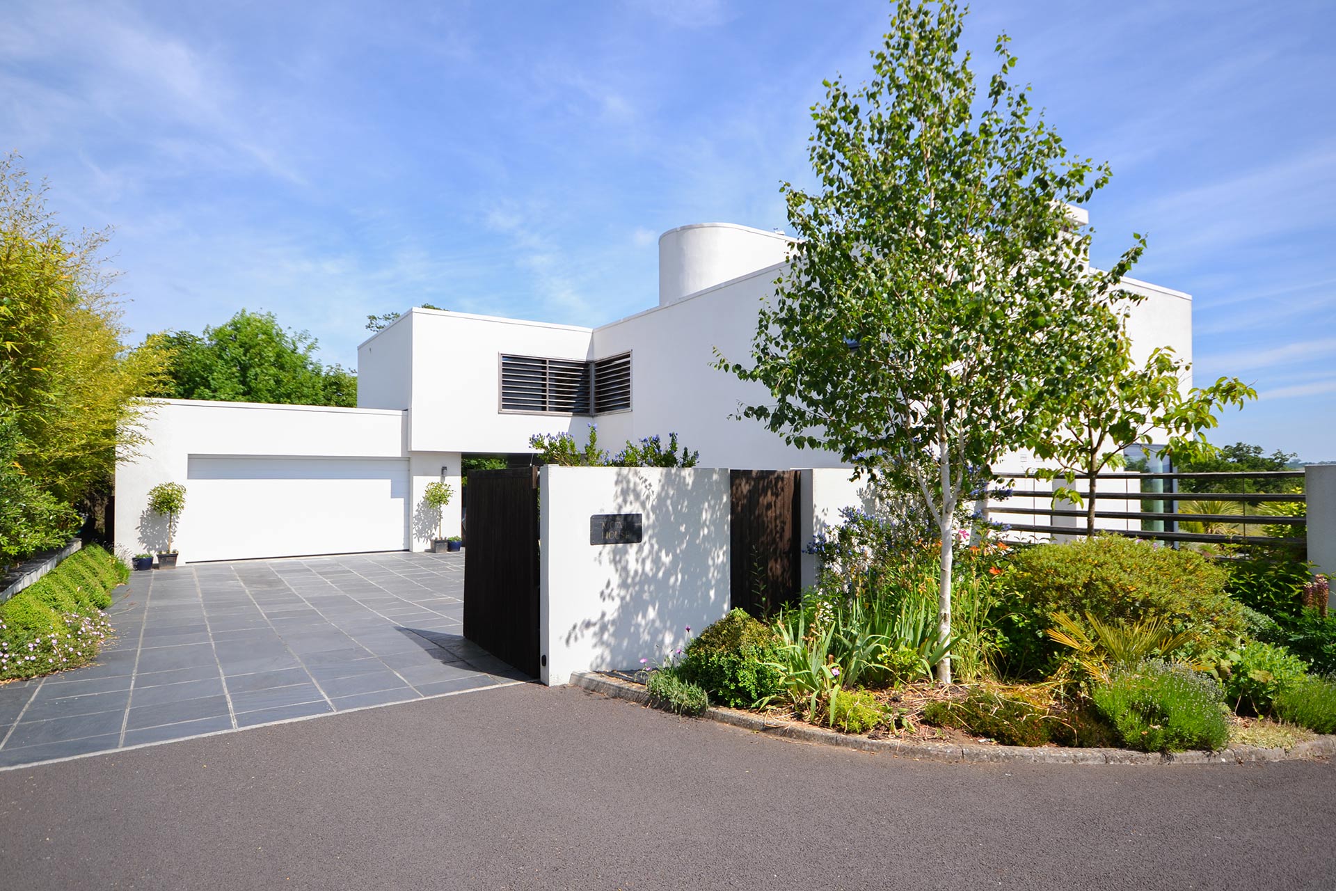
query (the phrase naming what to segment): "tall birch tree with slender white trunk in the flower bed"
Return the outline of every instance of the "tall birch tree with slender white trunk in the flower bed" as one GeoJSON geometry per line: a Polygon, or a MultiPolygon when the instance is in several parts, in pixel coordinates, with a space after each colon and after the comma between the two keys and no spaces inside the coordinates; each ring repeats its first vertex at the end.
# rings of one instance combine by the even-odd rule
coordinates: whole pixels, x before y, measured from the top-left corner
{"type": "MultiPolygon", "coordinates": [[[[1138,236],[1113,270],[1088,269],[1089,231],[1063,204],[1089,200],[1108,167],[1069,158],[1007,81],[1006,36],[979,98],[961,24],[954,3],[902,3],[867,83],[826,83],[810,148],[819,190],[783,186],[791,269],[760,313],[754,365],[720,357],[771,393],[745,417],[923,501],[942,538],[943,641],[962,496],[1050,399],[1086,386],[1142,250],[1138,236]]],[[[951,680],[950,659],[938,679],[951,680]]]]}

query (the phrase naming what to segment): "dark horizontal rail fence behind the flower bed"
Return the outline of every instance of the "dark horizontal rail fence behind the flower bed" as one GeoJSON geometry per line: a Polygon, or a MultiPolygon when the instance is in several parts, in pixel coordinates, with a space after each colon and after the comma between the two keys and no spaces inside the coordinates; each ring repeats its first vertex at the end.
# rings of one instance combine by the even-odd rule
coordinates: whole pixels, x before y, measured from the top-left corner
{"type": "MultiPolygon", "coordinates": [[[[1054,488],[1079,492],[1090,498],[1088,482],[1051,484],[1019,473],[999,473],[1011,488],[989,492],[987,517],[1005,522],[1014,533],[1031,536],[1085,536],[1085,505],[1053,497],[1054,488]],[[1025,504],[1018,504],[1023,501],[1025,504]],[[1038,502],[1047,504],[1038,504],[1038,502]],[[1025,522],[1034,517],[1035,522],[1025,522]],[[1011,518],[1021,518],[1011,522],[1011,518]],[[1047,522],[1042,522],[1046,520],[1047,522]]],[[[1101,473],[1096,477],[1096,530],[1133,538],[1201,544],[1305,545],[1305,494],[1303,470],[1233,473],[1101,473]],[[1299,492],[1293,489],[1299,480],[1299,492]],[[1196,492],[1200,486],[1238,488],[1238,492],[1196,492]],[[1249,488],[1252,492],[1249,492],[1249,488]],[[1261,489],[1261,492],[1259,492],[1261,489]],[[1277,489],[1281,489],[1277,492],[1277,489]],[[1130,510],[1126,502],[1141,502],[1130,510]],[[1267,513],[1271,505],[1297,505],[1288,513],[1267,513]],[[1110,506],[1112,505],[1112,506],[1110,506]],[[1237,508],[1234,508],[1237,505],[1237,508]],[[1188,508],[1188,510],[1182,510],[1188,508]],[[1237,510],[1237,513],[1236,513],[1237,510]],[[1186,525],[1186,528],[1185,528],[1186,525]],[[1267,534],[1263,526],[1287,534],[1267,534]]]]}

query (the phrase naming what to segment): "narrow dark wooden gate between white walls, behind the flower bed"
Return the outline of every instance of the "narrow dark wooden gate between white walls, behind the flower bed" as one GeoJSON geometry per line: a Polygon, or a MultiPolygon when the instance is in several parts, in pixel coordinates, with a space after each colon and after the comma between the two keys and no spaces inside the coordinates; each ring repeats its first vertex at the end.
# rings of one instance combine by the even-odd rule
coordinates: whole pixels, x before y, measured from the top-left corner
{"type": "Polygon", "coordinates": [[[732,605],[766,616],[800,596],[799,472],[733,470],[732,605]]]}

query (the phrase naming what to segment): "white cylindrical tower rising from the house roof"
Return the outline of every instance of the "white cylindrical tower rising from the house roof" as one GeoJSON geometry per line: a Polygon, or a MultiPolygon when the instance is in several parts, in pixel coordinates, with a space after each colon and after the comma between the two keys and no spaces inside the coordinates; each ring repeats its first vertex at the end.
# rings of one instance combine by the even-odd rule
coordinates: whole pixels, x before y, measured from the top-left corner
{"type": "Polygon", "coordinates": [[[659,305],[787,260],[794,239],[736,223],[693,223],[659,236],[659,305]]]}

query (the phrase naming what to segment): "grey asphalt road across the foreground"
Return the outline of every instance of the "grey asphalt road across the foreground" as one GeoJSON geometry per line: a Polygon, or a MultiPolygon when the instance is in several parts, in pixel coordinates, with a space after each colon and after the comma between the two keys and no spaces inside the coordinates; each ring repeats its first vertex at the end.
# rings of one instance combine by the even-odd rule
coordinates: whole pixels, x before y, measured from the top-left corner
{"type": "Polygon", "coordinates": [[[1336,768],[938,764],[508,687],[0,772],[0,888],[1331,888],[1336,768]]]}

